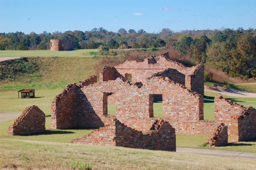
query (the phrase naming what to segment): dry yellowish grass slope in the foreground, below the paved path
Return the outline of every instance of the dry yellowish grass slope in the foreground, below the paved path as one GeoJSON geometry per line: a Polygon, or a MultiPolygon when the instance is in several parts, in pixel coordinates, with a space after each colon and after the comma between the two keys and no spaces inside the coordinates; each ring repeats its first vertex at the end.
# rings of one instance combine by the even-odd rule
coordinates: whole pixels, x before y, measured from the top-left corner
{"type": "Polygon", "coordinates": [[[73,160],[93,169],[255,169],[254,161],[86,144],[0,139],[0,168],[67,169],[73,160]],[[210,161],[209,161],[210,160],[210,161]],[[218,162],[218,163],[217,163],[218,162]]]}

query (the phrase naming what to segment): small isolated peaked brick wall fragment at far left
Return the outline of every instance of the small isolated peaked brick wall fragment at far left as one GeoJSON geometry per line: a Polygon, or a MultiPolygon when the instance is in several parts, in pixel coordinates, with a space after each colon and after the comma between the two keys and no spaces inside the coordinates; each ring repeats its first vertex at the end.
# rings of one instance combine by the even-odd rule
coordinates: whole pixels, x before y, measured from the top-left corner
{"type": "Polygon", "coordinates": [[[37,106],[27,107],[8,128],[9,135],[27,135],[45,131],[45,114],[37,106]]]}

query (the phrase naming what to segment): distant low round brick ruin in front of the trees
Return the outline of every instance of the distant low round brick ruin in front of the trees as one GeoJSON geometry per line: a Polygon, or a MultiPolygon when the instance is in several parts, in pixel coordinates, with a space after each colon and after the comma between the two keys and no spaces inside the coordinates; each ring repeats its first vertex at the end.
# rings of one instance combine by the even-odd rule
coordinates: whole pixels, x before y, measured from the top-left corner
{"type": "Polygon", "coordinates": [[[74,40],[50,40],[51,51],[72,51],[74,50],[74,40]]]}

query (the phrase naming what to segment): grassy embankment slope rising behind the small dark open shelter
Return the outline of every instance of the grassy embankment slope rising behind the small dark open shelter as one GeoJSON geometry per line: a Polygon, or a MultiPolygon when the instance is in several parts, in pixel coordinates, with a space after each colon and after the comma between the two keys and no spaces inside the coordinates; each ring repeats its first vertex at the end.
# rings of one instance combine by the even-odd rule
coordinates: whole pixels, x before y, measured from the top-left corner
{"type": "MultiPolygon", "coordinates": [[[[7,68],[10,72],[6,72],[4,69],[5,72],[2,74],[11,78],[0,81],[0,91],[64,88],[70,83],[78,83],[94,75],[93,66],[97,64],[98,59],[94,59],[94,57],[30,57],[28,61],[34,61],[34,65],[36,65],[34,67],[39,67],[37,71],[16,73],[15,70],[18,66],[15,67],[15,65],[7,68]]],[[[30,67],[29,64],[26,65],[30,67]]]]}

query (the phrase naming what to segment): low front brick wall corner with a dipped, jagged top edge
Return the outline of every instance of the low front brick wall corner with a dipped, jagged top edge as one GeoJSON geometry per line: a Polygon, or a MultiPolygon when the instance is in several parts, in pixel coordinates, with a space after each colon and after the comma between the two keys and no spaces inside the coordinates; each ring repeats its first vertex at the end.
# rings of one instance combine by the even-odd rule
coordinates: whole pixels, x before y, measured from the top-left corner
{"type": "Polygon", "coordinates": [[[74,139],[71,143],[176,151],[175,129],[164,121],[159,121],[154,126],[157,127],[155,130],[143,134],[114,119],[109,125],[82,138],[74,139]]]}

